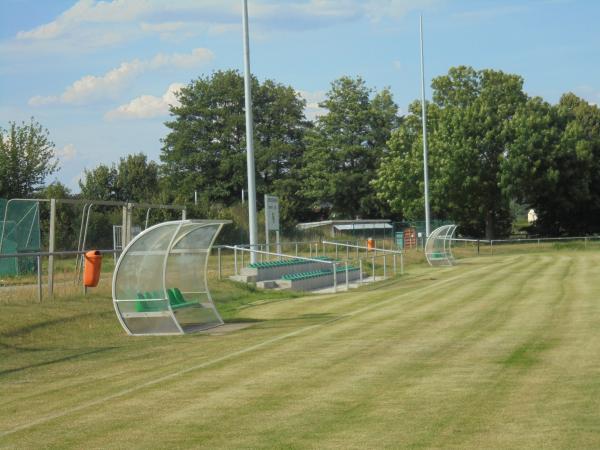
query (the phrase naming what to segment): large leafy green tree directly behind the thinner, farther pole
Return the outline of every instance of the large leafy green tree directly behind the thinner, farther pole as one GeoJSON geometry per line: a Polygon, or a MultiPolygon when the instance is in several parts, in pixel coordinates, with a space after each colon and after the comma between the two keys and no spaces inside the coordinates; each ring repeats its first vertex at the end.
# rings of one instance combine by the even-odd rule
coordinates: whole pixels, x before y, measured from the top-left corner
{"type": "MultiPolygon", "coordinates": [[[[523,79],[460,66],[435,78],[432,88],[428,109],[428,124],[433,122],[428,126],[432,210],[440,218],[452,218],[468,234],[487,238],[507,234],[512,218],[510,199],[501,187],[501,166],[512,139],[510,122],[527,99],[523,79]]],[[[411,114],[417,113],[420,108],[413,104],[411,114]]],[[[380,198],[401,208],[396,210],[402,214],[417,213],[422,204],[419,133],[417,118],[407,118],[390,141],[390,154],[374,182],[380,198]]]]}

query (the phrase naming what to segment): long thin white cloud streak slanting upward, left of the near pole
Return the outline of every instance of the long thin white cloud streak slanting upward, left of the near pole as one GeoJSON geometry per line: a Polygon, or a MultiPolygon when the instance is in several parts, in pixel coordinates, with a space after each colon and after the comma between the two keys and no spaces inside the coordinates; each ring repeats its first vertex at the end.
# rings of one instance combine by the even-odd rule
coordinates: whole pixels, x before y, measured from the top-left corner
{"type": "Polygon", "coordinates": [[[29,99],[30,106],[52,103],[85,104],[104,98],[116,98],[132,81],[148,70],[164,67],[192,68],[206,63],[214,57],[206,48],[196,48],[187,54],[159,53],[150,60],[134,59],[123,62],[104,75],[86,75],[68,86],[60,96],[35,96],[29,99]]]}

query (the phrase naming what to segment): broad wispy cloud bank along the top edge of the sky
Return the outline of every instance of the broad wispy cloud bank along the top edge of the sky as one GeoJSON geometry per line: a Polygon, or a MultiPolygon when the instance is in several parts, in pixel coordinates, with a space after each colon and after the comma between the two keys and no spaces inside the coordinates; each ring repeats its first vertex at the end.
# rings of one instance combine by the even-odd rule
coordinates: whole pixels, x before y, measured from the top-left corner
{"type": "MultiPolygon", "coordinates": [[[[445,0],[290,0],[251,2],[249,14],[258,32],[306,30],[366,17],[374,22],[398,19],[445,0]]],[[[55,20],[19,31],[24,47],[82,51],[114,45],[144,34],[176,39],[198,33],[238,31],[239,0],[79,0],[55,20]],[[44,46],[53,42],[54,46],[44,46]]]]}

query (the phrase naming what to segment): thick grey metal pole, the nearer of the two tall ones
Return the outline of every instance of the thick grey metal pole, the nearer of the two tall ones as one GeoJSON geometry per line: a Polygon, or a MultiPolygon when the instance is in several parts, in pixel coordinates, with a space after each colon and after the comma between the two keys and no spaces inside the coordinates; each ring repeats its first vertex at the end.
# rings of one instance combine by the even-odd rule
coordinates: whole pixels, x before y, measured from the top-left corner
{"type": "MultiPolygon", "coordinates": [[[[248,170],[248,225],[250,248],[256,250],[258,244],[258,222],[256,219],[256,181],[254,169],[254,121],[252,119],[252,91],[250,73],[250,44],[248,37],[248,0],[242,0],[244,34],[244,95],[246,106],[246,165],[248,170]]],[[[250,262],[255,263],[256,253],[250,252],[250,262]]]]}

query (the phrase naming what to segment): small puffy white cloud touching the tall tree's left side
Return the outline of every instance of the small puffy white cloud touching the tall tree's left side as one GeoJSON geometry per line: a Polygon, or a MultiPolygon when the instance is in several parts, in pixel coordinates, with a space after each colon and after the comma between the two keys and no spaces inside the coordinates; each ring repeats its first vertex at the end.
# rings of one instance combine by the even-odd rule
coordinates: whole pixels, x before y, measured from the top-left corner
{"type": "Polygon", "coordinates": [[[181,83],[171,84],[162,97],[142,95],[141,97],[134,98],[129,103],[107,112],[105,118],[108,120],[148,119],[151,117],[166,116],[169,114],[169,106],[179,106],[176,94],[183,86],[181,83]]]}

